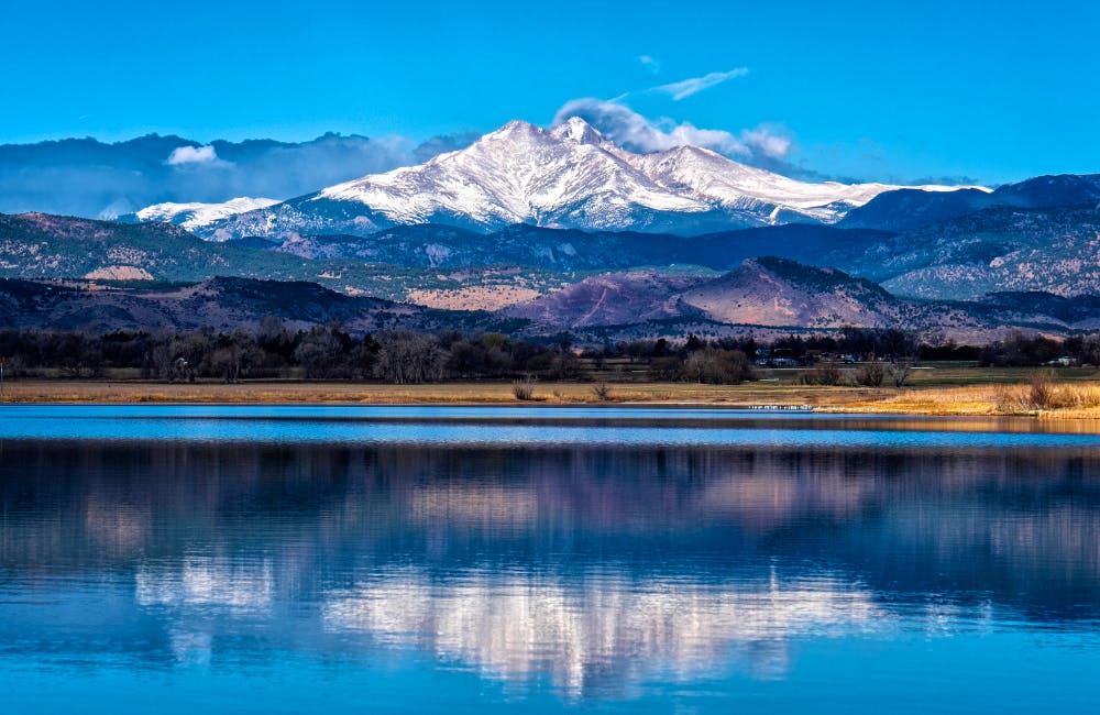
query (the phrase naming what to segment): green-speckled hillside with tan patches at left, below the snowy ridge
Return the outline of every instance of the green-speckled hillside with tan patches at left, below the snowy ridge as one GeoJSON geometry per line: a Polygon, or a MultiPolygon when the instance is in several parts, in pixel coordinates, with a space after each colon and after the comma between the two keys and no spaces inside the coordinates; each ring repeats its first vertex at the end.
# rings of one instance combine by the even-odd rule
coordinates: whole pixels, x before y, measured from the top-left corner
{"type": "Polygon", "coordinates": [[[0,215],[0,277],[196,283],[215,276],[237,276],[306,280],[348,295],[440,307],[452,306],[454,295],[484,299],[484,306],[464,300],[463,308],[528,299],[580,279],[568,271],[408,267],[346,256],[301,257],[268,249],[250,242],[202,241],[166,223],[0,215]]]}

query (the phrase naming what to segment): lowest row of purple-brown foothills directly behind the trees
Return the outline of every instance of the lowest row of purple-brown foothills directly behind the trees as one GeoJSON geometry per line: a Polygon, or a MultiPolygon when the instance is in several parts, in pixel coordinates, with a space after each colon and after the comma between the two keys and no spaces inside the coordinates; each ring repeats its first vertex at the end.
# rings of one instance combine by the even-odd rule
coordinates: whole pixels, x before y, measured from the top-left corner
{"type": "Polygon", "coordinates": [[[585,278],[495,311],[441,310],[349,296],[309,282],[215,277],[152,284],[0,279],[0,329],[118,330],[255,328],[267,316],[289,328],[339,322],[355,332],[492,330],[587,343],[695,333],[778,337],[847,327],[895,328],[985,342],[1005,330],[1048,334],[1100,328],[1100,298],[1001,293],[980,301],[902,299],[835,270],[756,258],[717,276],[632,271],[585,278]]]}

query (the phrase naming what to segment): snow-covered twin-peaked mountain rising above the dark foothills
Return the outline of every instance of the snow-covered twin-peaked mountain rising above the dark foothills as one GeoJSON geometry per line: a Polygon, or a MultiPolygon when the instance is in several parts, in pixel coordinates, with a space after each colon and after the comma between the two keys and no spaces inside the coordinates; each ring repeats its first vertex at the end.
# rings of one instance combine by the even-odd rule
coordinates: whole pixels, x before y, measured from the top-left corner
{"type": "Polygon", "coordinates": [[[366,235],[415,223],[480,231],[528,223],[690,234],[776,223],[833,223],[849,209],[895,188],[901,187],[798,182],[695,146],[635,154],[574,117],[551,129],[508,122],[466,148],[425,164],[364,176],[195,230],[215,240],[290,233],[366,235]]]}

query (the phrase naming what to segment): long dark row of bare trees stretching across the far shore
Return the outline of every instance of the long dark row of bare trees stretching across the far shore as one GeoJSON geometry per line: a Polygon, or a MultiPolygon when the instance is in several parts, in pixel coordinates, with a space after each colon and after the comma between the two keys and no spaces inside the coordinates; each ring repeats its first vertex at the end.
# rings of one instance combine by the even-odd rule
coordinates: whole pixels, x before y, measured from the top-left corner
{"type": "MultiPolygon", "coordinates": [[[[919,360],[969,360],[983,365],[1040,365],[1068,358],[1100,364],[1100,336],[1064,341],[1012,333],[988,345],[917,340],[894,329],[845,329],[833,336],[787,336],[681,340],[661,338],[606,343],[576,350],[566,334],[541,340],[499,332],[465,334],[395,330],[356,336],[339,323],[292,330],[270,316],[254,329],[233,331],[0,331],[0,361],[9,378],[56,374],[97,378],[129,369],[147,380],[307,378],[377,380],[394,384],[443,380],[572,380],[584,367],[604,369],[609,360],[639,366],[648,378],[733,384],[754,377],[756,363],[769,359],[811,366],[813,380],[828,381],[840,359],[911,364],[919,360]],[[832,365],[832,366],[829,366],[832,365]]],[[[869,383],[895,380],[891,370],[864,371],[869,383]],[[881,374],[880,374],[881,373],[881,374]]]]}

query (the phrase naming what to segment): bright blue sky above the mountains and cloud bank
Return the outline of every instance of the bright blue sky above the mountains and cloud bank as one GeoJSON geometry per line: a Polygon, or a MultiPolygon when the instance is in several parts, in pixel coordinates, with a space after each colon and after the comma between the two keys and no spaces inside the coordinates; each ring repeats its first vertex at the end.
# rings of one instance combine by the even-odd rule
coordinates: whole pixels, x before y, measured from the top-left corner
{"type": "Polygon", "coordinates": [[[1100,172],[1100,3],[1085,1],[28,2],[0,18],[0,142],[419,141],[594,98],[664,132],[768,140],[831,176],[1100,172]]]}

